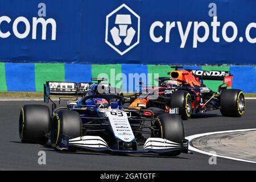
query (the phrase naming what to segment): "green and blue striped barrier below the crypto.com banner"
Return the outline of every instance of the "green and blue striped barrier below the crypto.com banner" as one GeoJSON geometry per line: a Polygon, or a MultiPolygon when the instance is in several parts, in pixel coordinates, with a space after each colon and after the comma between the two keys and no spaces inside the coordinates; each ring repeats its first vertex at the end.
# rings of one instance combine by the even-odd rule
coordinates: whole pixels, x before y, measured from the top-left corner
{"type": "MultiPolygon", "coordinates": [[[[256,93],[256,67],[252,66],[184,66],[184,69],[203,69],[208,71],[230,71],[233,75],[232,88],[242,89],[246,93],[256,93]]],[[[133,92],[134,73],[140,75],[152,74],[146,77],[144,84],[152,84],[154,73],[158,77],[168,76],[172,69],[170,65],[139,65],[139,64],[47,64],[47,63],[0,63],[0,91],[43,91],[46,81],[90,81],[91,77],[98,77],[105,73],[112,86],[121,88],[124,92],[133,92]],[[131,75],[131,73],[133,73],[131,75]],[[131,75],[129,77],[129,74],[131,75]],[[129,84],[132,81],[132,86],[129,84]]],[[[212,90],[217,90],[222,81],[204,81],[212,90]]]]}

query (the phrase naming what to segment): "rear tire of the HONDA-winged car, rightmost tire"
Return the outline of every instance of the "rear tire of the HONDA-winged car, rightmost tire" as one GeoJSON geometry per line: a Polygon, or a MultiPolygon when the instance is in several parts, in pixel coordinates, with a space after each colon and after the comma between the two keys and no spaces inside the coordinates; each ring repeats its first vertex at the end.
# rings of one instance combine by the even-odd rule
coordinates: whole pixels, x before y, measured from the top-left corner
{"type": "Polygon", "coordinates": [[[242,90],[222,90],[220,95],[220,111],[226,117],[241,117],[245,111],[245,96],[242,90]]]}

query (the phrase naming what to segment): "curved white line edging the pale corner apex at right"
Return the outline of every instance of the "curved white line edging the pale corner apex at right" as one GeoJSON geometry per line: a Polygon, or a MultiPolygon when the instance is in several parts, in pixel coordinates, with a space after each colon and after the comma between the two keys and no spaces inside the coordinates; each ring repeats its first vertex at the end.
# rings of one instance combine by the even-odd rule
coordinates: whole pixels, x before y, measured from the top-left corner
{"type": "Polygon", "coordinates": [[[192,150],[192,151],[195,151],[195,152],[199,152],[199,153],[201,153],[201,154],[216,156],[216,157],[219,157],[219,158],[232,159],[232,160],[238,160],[238,161],[241,161],[241,162],[255,163],[255,164],[256,164],[256,162],[251,161],[251,160],[232,158],[232,157],[228,157],[228,156],[222,156],[222,155],[212,154],[212,153],[210,153],[210,152],[205,152],[205,151],[199,150],[198,148],[195,148],[195,147],[193,147],[193,146],[190,145],[190,141],[192,141],[193,139],[199,138],[199,137],[203,137],[203,136],[207,136],[207,135],[214,135],[214,134],[221,134],[221,133],[233,133],[233,132],[237,132],[237,131],[254,131],[254,130],[256,130],[256,129],[217,131],[217,132],[210,132],[210,133],[203,133],[203,134],[191,135],[191,136],[189,136],[189,137],[186,137],[186,139],[189,140],[188,149],[189,149],[189,150],[192,150]]]}

